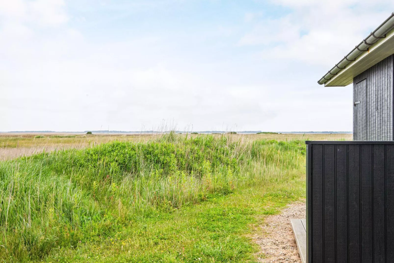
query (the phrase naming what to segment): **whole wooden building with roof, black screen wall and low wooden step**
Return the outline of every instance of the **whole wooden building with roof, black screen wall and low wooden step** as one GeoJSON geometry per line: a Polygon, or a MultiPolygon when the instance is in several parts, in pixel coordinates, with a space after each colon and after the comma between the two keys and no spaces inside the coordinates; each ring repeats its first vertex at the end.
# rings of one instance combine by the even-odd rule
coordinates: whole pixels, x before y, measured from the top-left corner
{"type": "Polygon", "coordinates": [[[307,141],[303,263],[394,262],[394,13],[319,84],[353,83],[353,141],[307,141]]]}

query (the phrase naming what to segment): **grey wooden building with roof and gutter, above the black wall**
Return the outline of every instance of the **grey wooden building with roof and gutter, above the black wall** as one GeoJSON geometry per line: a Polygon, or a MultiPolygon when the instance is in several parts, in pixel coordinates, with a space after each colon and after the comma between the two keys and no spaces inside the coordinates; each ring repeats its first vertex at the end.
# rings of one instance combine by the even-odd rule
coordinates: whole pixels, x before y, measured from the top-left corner
{"type": "Polygon", "coordinates": [[[394,14],[318,81],[353,83],[353,140],[393,141],[394,14]]]}

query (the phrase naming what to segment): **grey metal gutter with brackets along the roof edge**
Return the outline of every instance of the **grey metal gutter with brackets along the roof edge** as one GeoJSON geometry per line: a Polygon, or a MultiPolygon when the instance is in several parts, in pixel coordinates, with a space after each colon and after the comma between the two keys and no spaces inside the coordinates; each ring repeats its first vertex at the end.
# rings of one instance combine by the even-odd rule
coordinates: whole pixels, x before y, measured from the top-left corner
{"type": "Polygon", "coordinates": [[[361,43],[359,43],[349,54],[347,54],[338,64],[327,72],[319,81],[320,85],[329,81],[333,76],[343,70],[350,62],[355,61],[356,58],[363,52],[367,52],[369,47],[372,46],[380,38],[385,38],[386,34],[394,28],[394,12],[388,17],[385,22],[378,26],[374,31],[369,34],[361,43]]]}

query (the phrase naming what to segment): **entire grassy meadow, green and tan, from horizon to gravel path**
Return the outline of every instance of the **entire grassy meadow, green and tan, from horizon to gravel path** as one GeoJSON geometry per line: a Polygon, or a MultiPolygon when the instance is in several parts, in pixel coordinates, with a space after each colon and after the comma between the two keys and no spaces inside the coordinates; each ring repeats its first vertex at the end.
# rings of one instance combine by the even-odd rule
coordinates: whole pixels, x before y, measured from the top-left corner
{"type": "Polygon", "coordinates": [[[2,134],[0,262],[256,262],[305,140],[351,134],[2,134]]]}

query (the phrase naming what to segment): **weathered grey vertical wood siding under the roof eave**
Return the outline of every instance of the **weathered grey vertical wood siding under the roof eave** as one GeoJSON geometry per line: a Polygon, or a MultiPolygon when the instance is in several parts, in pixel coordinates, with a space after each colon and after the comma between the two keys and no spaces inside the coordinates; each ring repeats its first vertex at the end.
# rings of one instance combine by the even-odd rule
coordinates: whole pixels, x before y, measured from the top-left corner
{"type": "Polygon", "coordinates": [[[353,140],[392,141],[393,55],[353,79],[353,140]]]}

